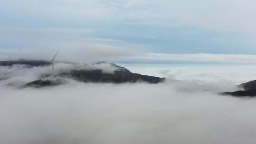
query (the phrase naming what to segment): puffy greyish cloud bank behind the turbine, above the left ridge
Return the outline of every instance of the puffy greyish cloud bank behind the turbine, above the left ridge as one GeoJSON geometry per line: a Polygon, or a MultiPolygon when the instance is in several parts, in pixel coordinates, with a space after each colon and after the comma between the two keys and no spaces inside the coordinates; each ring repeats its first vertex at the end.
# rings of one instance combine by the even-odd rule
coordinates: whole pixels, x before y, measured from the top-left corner
{"type": "Polygon", "coordinates": [[[42,59],[51,60],[56,52],[57,61],[69,62],[98,62],[102,60],[118,60],[122,57],[133,56],[137,53],[136,50],[128,49],[126,46],[116,46],[109,44],[84,44],[84,45],[69,45],[59,49],[5,49],[0,52],[0,60],[17,60],[25,59],[42,59]],[[70,46],[70,47],[69,47],[70,46]],[[72,47],[72,48],[71,48],[72,47]]]}

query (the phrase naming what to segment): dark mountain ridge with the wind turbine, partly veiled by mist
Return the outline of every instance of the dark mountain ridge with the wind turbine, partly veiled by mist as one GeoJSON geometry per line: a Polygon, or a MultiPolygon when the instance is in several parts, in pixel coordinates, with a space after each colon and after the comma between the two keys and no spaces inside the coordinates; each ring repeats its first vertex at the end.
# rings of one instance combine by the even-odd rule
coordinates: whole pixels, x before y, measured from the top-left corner
{"type": "MultiPolygon", "coordinates": [[[[34,66],[46,66],[51,65],[51,62],[48,61],[37,61],[37,60],[17,60],[17,61],[2,61],[0,62],[1,66],[12,66],[14,64],[27,65],[29,67],[34,66]]],[[[97,64],[110,64],[110,67],[114,67],[115,71],[112,73],[103,72],[102,69],[72,69],[61,71],[55,74],[58,78],[70,78],[76,81],[81,82],[95,82],[95,83],[125,83],[125,82],[147,82],[147,83],[159,83],[165,81],[165,78],[159,78],[148,75],[141,75],[138,73],[132,73],[124,67],[116,65],[114,63],[107,63],[105,61],[92,63],[92,65],[97,64]]],[[[45,77],[41,76],[41,78],[45,77]]],[[[25,87],[44,87],[44,86],[54,86],[60,84],[61,81],[52,81],[52,80],[36,80],[25,84],[25,87]]]]}

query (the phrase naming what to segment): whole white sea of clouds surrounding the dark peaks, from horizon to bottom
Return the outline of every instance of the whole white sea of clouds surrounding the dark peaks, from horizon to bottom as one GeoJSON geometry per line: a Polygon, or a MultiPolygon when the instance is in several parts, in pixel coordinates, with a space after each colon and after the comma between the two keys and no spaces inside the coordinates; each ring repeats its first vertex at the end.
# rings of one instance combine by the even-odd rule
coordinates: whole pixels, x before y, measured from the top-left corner
{"type": "Polygon", "coordinates": [[[255,66],[121,66],[179,81],[19,89],[6,84],[51,66],[0,67],[0,144],[255,144],[256,99],[218,95],[254,80],[255,66]]]}

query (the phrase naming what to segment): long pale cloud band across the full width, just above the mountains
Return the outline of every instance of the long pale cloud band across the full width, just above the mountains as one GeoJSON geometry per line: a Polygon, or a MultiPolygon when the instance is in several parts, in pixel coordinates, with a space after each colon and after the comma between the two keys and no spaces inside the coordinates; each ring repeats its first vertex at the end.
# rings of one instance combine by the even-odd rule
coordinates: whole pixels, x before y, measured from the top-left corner
{"type": "MultiPolygon", "coordinates": [[[[116,61],[134,63],[166,63],[166,62],[216,62],[216,63],[256,63],[256,55],[250,54],[161,54],[143,53],[129,49],[129,46],[115,46],[110,44],[87,44],[85,47],[75,46],[71,49],[63,47],[57,55],[57,61],[92,63],[99,61],[116,61]]],[[[0,52],[0,60],[52,59],[58,49],[6,49],[0,52]],[[40,55],[38,55],[40,53],[40,55]]]]}

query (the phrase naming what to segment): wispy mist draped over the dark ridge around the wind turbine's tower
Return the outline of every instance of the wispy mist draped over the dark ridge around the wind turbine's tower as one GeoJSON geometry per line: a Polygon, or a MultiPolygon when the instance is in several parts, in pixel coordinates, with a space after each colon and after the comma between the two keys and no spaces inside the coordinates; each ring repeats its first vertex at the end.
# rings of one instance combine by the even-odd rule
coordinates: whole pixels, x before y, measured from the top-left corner
{"type": "MultiPolygon", "coordinates": [[[[118,67],[110,63],[60,63],[55,62],[55,76],[61,72],[70,70],[101,70],[103,73],[120,71],[118,67]]],[[[13,66],[0,66],[0,85],[14,85],[20,87],[30,81],[38,79],[49,79],[52,75],[52,65],[30,67],[27,65],[15,64],[13,66]]]]}

